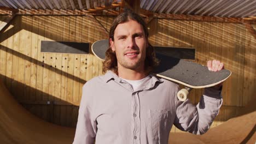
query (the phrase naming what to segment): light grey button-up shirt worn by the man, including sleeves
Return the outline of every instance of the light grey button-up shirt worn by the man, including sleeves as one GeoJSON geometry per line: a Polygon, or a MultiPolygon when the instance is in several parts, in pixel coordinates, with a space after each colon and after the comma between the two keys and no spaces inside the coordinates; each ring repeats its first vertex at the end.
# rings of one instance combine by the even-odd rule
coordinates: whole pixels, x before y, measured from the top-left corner
{"type": "Polygon", "coordinates": [[[196,106],[177,99],[178,85],[150,75],[133,91],[112,71],[85,83],[74,142],[168,143],[172,125],[203,134],[218,115],[220,91],[206,88],[196,106]]]}

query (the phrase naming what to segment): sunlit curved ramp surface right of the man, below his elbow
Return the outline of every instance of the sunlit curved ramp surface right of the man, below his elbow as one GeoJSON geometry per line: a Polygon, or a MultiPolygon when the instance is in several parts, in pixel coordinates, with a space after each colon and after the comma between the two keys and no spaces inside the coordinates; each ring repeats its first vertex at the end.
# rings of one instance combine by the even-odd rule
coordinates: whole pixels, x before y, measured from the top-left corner
{"type": "Polygon", "coordinates": [[[238,117],[231,118],[203,135],[171,133],[169,143],[256,143],[256,100],[252,100],[238,117]]]}

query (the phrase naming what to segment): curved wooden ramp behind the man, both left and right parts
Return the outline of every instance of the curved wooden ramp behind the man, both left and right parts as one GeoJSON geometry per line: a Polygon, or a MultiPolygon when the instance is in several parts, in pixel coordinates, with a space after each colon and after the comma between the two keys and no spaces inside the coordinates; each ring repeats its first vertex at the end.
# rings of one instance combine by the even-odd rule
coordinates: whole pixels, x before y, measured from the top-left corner
{"type": "MultiPolygon", "coordinates": [[[[168,143],[255,143],[255,100],[247,113],[210,129],[204,135],[171,133],[168,143]]],[[[17,103],[0,81],[0,143],[72,143],[75,129],[60,127],[32,115],[17,103]]]]}

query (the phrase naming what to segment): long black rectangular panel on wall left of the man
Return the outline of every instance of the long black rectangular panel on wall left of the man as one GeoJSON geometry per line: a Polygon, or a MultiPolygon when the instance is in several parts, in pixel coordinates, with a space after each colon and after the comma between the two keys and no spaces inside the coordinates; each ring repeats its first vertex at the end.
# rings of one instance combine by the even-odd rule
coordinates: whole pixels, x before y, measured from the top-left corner
{"type": "Polygon", "coordinates": [[[88,54],[89,43],[41,41],[41,52],[88,54]]]}

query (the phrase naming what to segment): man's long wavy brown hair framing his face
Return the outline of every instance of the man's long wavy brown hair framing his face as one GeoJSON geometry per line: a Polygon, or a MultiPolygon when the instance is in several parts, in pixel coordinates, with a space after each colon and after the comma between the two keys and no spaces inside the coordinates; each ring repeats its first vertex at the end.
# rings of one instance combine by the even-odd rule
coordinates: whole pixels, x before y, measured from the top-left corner
{"type": "MultiPolygon", "coordinates": [[[[120,14],[119,16],[117,16],[114,19],[112,26],[110,27],[109,39],[112,39],[114,41],[115,28],[117,28],[117,26],[120,23],[125,23],[129,20],[137,21],[143,27],[143,30],[144,30],[144,33],[146,36],[146,40],[148,43],[148,47],[146,49],[146,59],[145,59],[145,63],[144,63],[144,67],[145,67],[144,70],[148,74],[156,67],[156,65],[159,64],[159,61],[155,57],[154,47],[151,44],[149,44],[148,29],[146,27],[146,23],[141,18],[141,16],[139,16],[136,13],[133,13],[130,9],[125,9],[124,13],[120,14]]],[[[103,62],[103,73],[106,73],[108,70],[112,70],[112,71],[114,71],[114,73],[118,74],[117,56],[115,55],[115,52],[112,51],[110,45],[109,45],[109,48],[106,51],[105,55],[106,55],[106,58],[105,58],[105,61],[103,62]]]]}

